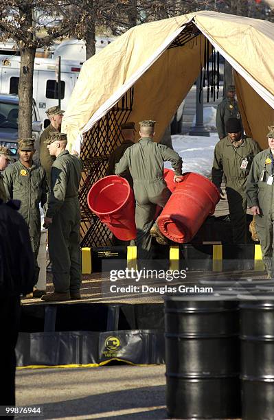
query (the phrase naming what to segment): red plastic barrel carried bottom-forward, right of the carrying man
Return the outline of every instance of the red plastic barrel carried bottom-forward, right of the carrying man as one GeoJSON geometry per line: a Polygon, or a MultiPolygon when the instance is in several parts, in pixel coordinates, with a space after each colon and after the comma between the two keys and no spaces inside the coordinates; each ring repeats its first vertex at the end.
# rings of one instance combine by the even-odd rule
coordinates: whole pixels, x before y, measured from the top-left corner
{"type": "Polygon", "coordinates": [[[181,244],[190,242],[208,215],[214,213],[220,194],[205,176],[187,172],[176,185],[158,218],[166,237],[181,244]]]}

